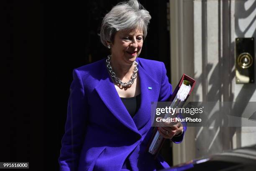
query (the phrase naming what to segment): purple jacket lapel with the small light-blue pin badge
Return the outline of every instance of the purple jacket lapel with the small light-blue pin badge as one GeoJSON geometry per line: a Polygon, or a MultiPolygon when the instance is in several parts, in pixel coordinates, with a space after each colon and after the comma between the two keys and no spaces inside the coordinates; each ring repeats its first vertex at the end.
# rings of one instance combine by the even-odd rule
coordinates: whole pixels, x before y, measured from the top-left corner
{"type": "Polygon", "coordinates": [[[138,130],[143,128],[151,119],[151,102],[156,102],[159,97],[160,85],[145,71],[138,60],[138,76],[141,82],[141,106],[133,117],[138,130]]]}

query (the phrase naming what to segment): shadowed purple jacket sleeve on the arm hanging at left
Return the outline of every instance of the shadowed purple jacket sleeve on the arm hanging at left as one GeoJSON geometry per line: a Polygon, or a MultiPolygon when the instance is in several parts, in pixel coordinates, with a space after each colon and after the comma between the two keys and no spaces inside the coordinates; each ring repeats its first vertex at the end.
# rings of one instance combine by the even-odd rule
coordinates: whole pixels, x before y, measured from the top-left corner
{"type": "Polygon", "coordinates": [[[61,140],[60,171],[77,171],[88,114],[88,103],[79,71],[74,69],[67,106],[65,133],[61,140]]]}

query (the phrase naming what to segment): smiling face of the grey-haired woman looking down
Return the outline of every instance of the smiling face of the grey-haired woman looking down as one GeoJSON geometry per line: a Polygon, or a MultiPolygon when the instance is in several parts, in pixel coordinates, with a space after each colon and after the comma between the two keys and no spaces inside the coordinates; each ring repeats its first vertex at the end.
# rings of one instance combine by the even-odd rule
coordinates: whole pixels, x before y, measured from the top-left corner
{"type": "Polygon", "coordinates": [[[141,29],[132,31],[118,31],[114,43],[111,44],[112,59],[120,64],[132,64],[141,53],[143,32],[141,29]]]}

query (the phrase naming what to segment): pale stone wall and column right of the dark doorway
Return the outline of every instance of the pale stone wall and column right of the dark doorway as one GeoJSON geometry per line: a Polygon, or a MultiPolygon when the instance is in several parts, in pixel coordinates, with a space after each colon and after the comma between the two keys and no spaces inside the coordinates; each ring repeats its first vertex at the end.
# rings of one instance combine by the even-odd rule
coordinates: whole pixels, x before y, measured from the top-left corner
{"type": "MultiPolygon", "coordinates": [[[[236,37],[256,38],[256,0],[170,0],[170,23],[172,84],[183,73],[194,77],[190,101],[233,101],[243,108],[256,102],[256,84],[236,84],[234,56],[236,37]]],[[[253,143],[256,127],[188,128],[173,146],[174,164],[253,143]]]]}

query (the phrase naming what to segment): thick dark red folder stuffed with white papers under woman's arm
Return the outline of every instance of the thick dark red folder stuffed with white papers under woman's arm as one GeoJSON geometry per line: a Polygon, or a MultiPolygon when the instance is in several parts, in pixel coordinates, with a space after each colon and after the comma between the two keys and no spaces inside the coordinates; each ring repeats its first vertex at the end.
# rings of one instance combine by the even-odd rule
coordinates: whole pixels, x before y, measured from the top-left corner
{"type": "MultiPolygon", "coordinates": [[[[192,90],[195,87],[195,79],[192,79],[191,77],[187,76],[186,74],[182,75],[182,78],[179,81],[179,84],[177,87],[174,89],[174,92],[172,94],[172,97],[170,101],[172,104],[170,105],[171,108],[175,107],[183,107],[187,98],[191,94],[192,90]]],[[[166,113],[164,115],[164,118],[171,117],[171,113],[166,113]]],[[[154,129],[154,134],[151,138],[150,145],[148,148],[148,152],[156,155],[159,153],[161,146],[164,143],[165,138],[160,135],[160,133],[157,131],[157,129],[154,129]]]]}

